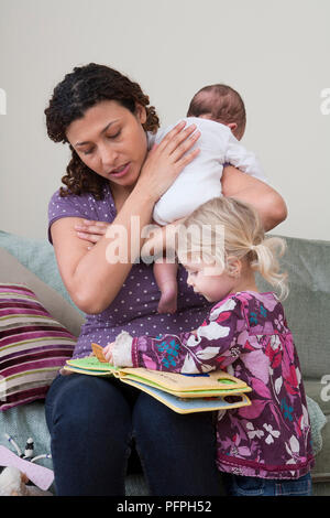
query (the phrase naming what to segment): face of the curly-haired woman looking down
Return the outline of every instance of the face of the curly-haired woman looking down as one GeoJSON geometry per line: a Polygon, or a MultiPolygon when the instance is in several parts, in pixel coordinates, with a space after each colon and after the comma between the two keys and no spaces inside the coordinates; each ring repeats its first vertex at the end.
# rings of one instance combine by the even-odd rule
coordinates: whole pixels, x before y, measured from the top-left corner
{"type": "Polygon", "coordinates": [[[72,122],[66,137],[89,169],[128,187],[135,184],[146,158],[145,120],[140,105],[132,114],[114,100],[103,100],[72,122]]]}

